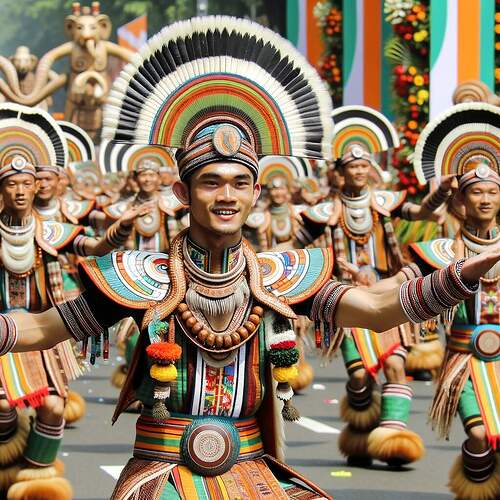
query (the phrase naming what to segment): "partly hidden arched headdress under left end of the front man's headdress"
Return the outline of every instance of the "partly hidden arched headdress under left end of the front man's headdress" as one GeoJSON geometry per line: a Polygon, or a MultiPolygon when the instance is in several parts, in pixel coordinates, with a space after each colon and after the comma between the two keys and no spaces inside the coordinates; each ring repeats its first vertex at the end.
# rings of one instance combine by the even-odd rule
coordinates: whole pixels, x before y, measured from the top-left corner
{"type": "Polygon", "coordinates": [[[123,144],[112,141],[101,143],[99,166],[103,174],[109,172],[134,172],[145,160],[151,160],[160,168],[175,168],[173,152],[168,148],[123,144]]]}

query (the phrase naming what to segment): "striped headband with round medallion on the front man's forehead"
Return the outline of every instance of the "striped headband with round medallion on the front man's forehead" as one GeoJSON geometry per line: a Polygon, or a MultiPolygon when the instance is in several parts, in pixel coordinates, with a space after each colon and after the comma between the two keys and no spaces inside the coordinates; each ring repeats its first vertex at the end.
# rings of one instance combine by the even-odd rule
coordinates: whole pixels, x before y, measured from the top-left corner
{"type": "Polygon", "coordinates": [[[259,159],[255,148],[234,125],[211,125],[199,132],[195,140],[176,154],[181,181],[195,170],[217,161],[229,161],[248,167],[255,180],[259,159]]]}

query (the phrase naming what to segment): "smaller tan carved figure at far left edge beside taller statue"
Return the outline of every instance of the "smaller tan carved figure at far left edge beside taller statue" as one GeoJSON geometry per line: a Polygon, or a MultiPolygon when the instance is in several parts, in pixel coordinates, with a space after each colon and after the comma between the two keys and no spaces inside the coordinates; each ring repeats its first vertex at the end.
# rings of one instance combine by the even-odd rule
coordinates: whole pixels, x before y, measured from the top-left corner
{"type": "MultiPolygon", "coordinates": [[[[0,70],[4,73],[6,81],[0,79],[0,94],[4,100],[24,102],[35,88],[36,68],[38,57],[30,52],[24,45],[17,47],[16,52],[9,58],[0,56],[0,70]]],[[[50,94],[55,92],[66,82],[65,75],[58,75],[49,70],[46,73],[45,85],[41,88],[32,105],[47,110],[52,103],[50,94]]]]}

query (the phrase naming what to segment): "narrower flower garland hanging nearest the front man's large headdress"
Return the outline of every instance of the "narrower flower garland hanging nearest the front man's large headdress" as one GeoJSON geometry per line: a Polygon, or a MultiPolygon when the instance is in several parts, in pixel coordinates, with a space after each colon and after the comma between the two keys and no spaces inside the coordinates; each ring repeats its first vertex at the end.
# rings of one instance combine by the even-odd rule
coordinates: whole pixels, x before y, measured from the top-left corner
{"type": "Polygon", "coordinates": [[[317,70],[328,83],[334,106],[342,106],[342,0],[318,2],[314,16],[325,47],[317,70]]]}

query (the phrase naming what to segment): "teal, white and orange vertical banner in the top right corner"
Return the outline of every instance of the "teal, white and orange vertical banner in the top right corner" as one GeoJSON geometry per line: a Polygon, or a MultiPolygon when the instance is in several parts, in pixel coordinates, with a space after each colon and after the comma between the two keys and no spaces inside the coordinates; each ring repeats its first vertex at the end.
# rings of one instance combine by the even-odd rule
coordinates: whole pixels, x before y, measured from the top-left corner
{"type": "Polygon", "coordinates": [[[494,88],[494,37],[495,0],[431,0],[431,118],[466,80],[494,88]]]}

